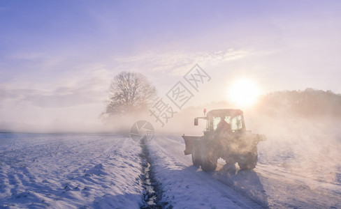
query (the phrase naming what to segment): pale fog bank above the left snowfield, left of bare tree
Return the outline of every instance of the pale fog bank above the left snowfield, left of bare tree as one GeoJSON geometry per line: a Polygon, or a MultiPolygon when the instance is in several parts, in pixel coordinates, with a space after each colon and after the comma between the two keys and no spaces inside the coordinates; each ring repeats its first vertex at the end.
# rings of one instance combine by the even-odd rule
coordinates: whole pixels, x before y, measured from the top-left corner
{"type": "Polygon", "coordinates": [[[100,131],[99,114],[111,72],[88,66],[43,82],[15,79],[0,84],[0,129],[22,132],[100,131]]]}

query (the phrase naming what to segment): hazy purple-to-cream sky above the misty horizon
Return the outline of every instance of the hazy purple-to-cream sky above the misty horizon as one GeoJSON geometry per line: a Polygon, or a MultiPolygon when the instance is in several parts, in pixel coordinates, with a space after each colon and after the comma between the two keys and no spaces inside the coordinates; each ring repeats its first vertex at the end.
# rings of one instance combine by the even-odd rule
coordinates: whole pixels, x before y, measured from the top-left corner
{"type": "Polygon", "coordinates": [[[0,0],[0,130],[96,130],[110,79],[143,72],[163,96],[191,67],[263,93],[341,93],[341,1],[0,0]]]}

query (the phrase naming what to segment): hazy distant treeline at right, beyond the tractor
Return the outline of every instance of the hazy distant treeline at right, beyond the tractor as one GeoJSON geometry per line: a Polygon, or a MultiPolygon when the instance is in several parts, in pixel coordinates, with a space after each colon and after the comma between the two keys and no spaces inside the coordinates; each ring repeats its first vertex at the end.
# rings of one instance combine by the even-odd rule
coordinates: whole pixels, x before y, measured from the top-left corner
{"type": "Polygon", "coordinates": [[[263,96],[259,110],[303,116],[336,116],[341,118],[341,95],[332,91],[307,88],[305,91],[275,91],[263,96]]]}

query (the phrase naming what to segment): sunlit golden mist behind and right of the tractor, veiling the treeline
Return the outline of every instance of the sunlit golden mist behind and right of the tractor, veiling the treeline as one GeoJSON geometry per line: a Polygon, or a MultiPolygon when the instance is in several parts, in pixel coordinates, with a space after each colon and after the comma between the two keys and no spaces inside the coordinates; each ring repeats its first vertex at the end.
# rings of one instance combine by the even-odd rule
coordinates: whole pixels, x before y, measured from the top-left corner
{"type": "MultiPolygon", "coordinates": [[[[307,89],[278,91],[259,98],[244,111],[245,125],[252,133],[265,134],[259,143],[260,159],[282,169],[322,182],[336,183],[341,169],[341,95],[307,89]]],[[[177,114],[156,134],[198,135],[205,120],[194,126],[203,109],[238,108],[228,102],[212,102],[188,107],[177,114]]],[[[157,126],[157,125],[156,125],[157,126]]],[[[314,187],[314,186],[312,186],[314,187]]]]}

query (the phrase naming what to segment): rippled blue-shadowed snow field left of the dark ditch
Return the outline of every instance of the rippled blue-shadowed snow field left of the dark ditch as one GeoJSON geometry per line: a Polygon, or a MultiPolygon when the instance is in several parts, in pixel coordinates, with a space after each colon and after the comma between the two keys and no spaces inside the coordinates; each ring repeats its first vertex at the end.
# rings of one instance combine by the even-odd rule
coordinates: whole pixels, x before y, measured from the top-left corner
{"type": "Polygon", "coordinates": [[[110,134],[0,134],[0,208],[140,208],[140,150],[110,134]]]}

